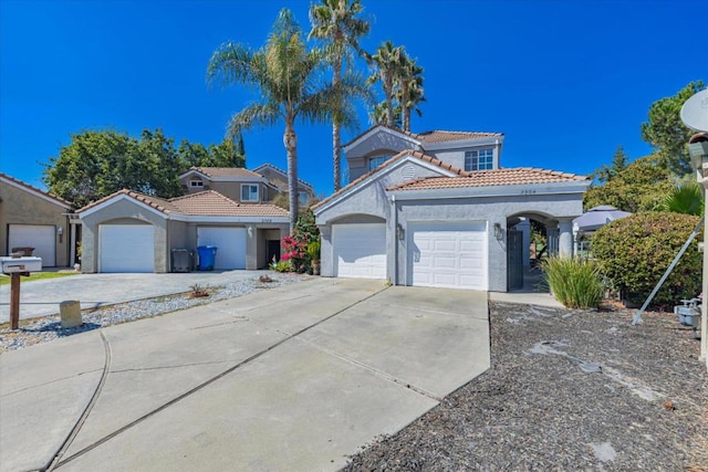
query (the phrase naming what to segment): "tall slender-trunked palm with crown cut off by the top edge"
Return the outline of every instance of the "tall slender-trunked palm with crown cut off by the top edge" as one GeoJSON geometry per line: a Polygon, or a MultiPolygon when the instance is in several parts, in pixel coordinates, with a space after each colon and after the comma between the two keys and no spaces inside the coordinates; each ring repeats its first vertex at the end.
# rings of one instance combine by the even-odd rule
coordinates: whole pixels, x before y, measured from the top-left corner
{"type": "MultiPolygon", "coordinates": [[[[342,80],[342,69],[352,51],[362,53],[358,39],[368,34],[371,25],[356,18],[364,11],[360,0],[322,0],[322,4],[310,7],[312,30],[310,38],[323,40],[329,62],[332,65],[332,83],[342,80]]],[[[340,96],[340,104],[344,97],[340,96]]],[[[342,119],[339,113],[332,116],[332,162],[334,167],[334,191],[342,186],[342,119]]]]}

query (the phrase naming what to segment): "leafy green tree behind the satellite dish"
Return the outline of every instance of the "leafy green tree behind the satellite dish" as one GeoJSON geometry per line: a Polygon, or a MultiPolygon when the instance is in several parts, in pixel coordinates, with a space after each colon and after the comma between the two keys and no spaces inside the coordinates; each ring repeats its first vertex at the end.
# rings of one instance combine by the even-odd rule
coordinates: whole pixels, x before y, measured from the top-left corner
{"type": "Polygon", "coordinates": [[[649,120],[642,124],[642,139],[656,148],[662,165],[677,176],[691,171],[686,145],[695,133],[684,125],[679,113],[684,103],[702,87],[702,81],[691,82],[676,95],[654,102],[649,120]]]}

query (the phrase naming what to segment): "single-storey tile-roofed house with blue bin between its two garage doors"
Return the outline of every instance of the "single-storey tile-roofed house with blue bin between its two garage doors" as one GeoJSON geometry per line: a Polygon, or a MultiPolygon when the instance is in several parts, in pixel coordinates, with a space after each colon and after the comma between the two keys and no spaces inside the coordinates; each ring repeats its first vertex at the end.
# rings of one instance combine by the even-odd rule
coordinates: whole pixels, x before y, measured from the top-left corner
{"type": "Polygon", "coordinates": [[[218,248],[216,270],[260,269],[280,258],[289,231],[282,208],[239,203],[215,190],[169,200],[121,190],[77,213],[83,272],[170,272],[173,250],[199,245],[218,248]]]}

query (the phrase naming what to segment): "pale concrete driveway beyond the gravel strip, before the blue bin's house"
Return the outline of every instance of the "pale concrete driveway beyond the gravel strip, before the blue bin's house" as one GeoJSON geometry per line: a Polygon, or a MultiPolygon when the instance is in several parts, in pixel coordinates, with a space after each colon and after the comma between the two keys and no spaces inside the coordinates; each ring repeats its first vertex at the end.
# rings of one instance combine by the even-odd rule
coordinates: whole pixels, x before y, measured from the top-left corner
{"type": "MultiPolygon", "coordinates": [[[[79,274],[21,283],[20,319],[59,313],[65,300],[81,308],[188,292],[191,285],[222,285],[253,279],[263,271],[190,272],[168,274],[79,274]]],[[[0,323],[10,321],[10,285],[0,285],[0,323]]]]}

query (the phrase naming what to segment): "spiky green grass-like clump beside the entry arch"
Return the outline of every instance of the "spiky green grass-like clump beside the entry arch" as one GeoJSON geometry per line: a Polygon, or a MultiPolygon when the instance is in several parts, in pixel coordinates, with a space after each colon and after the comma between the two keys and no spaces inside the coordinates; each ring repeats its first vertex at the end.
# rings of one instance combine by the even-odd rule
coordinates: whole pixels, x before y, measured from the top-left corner
{"type": "Polygon", "coordinates": [[[549,258],[542,269],[555,298],[569,308],[596,308],[605,286],[594,261],[580,258],[549,258]]]}

